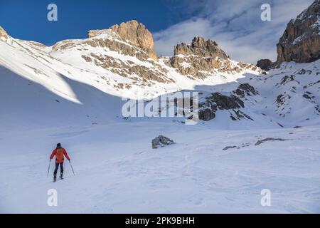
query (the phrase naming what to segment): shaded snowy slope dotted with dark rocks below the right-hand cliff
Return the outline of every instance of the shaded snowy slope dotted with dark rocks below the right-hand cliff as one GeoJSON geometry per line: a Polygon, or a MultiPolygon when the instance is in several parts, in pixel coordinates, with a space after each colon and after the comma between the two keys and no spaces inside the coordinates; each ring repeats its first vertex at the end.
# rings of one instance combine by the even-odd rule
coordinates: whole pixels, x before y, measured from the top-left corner
{"type": "MultiPolygon", "coordinates": [[[[242,110],[253,120],[245,120],[245,124],[259,125],[260,128],[319,125],[319,76],[320,61],[299,64],[282,63],[280,68],[271,70],[266,76],[246,73],[245,77],[239,78],[234,83],[197,86],[196,90],[203,91],[203,97],[213,92],[228,95],[240,84],[248,83],[257,90],[258,94],[241,98],[245,104],[242,110]]],[[[228,116],[228,113],[230,110],[224,111],[223,116],[228,116]]],[[[232,123],[232,125],[238,124],[232,123]]]]}

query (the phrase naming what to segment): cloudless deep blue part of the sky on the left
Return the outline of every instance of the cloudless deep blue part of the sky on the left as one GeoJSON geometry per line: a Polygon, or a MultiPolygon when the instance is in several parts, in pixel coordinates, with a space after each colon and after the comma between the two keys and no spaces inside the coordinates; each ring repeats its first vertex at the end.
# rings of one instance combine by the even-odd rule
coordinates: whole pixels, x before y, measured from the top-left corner
{"type": "Polygon", "coordinates": [[[136,19],[159,31],[171,21],[165,1],[0,0],[0,25],[14,37],[53,44],[66,38],[85,38],[87,31],[109,28],[136,19]],[[58,6],[58,21],[47,20],[47,6],[58,6]]]}

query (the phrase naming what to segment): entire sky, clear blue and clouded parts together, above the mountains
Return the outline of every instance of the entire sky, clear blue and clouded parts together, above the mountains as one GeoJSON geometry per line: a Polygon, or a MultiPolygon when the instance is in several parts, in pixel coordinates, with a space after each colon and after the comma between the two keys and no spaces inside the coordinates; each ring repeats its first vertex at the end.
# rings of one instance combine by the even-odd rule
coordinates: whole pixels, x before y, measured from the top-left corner
{"type": "Polygon", "coordinates": [[[85,38],[90,29],[135,19],[154,34],[158,55],[169,56],[176,43],[194,36],[217,41],[238,61],[275,60],[275,45],[290,19],[312,0],[0,0],[0,26],[15,38],[52,45],[85,38]],[[47,20],[47,6],[58,6],[58,21],[47,20]],[[261,21],[260,6],[272,6],[272,21],[261,21]]]}

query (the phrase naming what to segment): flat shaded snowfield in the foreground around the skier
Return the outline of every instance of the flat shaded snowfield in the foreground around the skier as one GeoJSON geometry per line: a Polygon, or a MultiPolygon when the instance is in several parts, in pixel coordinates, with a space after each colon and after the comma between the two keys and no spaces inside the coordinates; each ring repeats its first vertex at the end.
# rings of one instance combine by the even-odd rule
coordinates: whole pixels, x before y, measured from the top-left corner
{"type": "MultiPolygon", "coordinates": [[[[0,166],[1,212],[320,212],[319,127],[238,131],[195,127],[186,133],[168,124],[164,134],[177,144],[152,150],[150,133],[144,131],[147,124],[134,123],[139,126],[134,134],[117,135],[115,130],[112,138],[89,145],[85,138],[124,126],[92,127],[78,135],[62,128],[4,138],[2,143],[11,147],[0,166]],[[65,162],[65,180],[55,183],[46,177],[52,148],[43,143],[55,140],[53,135],[68,142],[64,146],[76,172],[73,176],[65,162]],[[291,140],[254,145],[267,137],[291,140]],[[243,143],[250,145],[241,147],[243,143]],[[228,145],[240,149],[222,150],[228,145]],[[51,188],[58,190],[58,207],[47,205],[51,188]],[[271,207],[260,205],[262,189],[272,192],[271,207]]],[[[134,129],[130,125],[126,128],[134,129]]],[[[154,131],[163,127],[153,125],[154,131]]],[[[53,163],[51,176],[52,172],[53,163]]]]}

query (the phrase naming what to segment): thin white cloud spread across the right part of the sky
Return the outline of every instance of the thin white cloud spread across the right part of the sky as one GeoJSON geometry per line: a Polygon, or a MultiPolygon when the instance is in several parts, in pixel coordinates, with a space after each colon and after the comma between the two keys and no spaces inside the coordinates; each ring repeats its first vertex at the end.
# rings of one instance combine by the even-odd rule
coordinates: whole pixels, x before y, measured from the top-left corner
{"type": "Polygon", "coordinates": [[[154,33],[155,49],[158,54],[171,56],[177,43],[191,43],[194,36],[203,36],[217,41],[235,60],[257,63],[260,58],[270,58],[274,61],[276,43],[287,23],[311,3],[312,0],[206,1],[198,15],[154,33]],[[271,5],[272,21],[261,21],[263,3],[271,5]]]}

